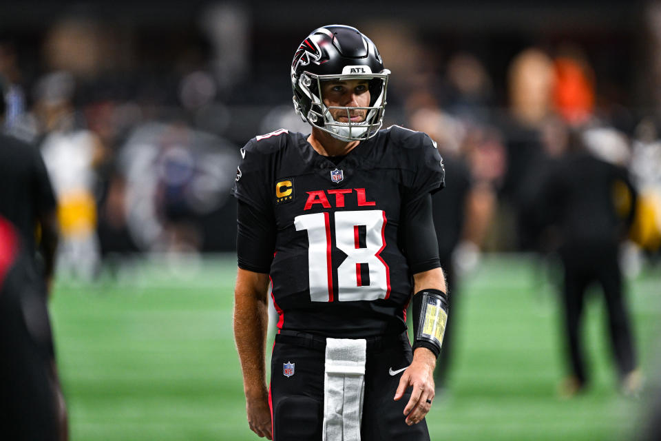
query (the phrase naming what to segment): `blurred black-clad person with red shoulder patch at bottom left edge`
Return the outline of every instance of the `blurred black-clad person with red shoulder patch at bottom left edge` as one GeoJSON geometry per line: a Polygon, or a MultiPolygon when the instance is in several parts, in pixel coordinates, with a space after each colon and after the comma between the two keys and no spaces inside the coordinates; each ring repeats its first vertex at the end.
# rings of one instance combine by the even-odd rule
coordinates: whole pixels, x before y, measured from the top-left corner
{"type": "Polygon", "coordinates": [[[63,440],[45,285],[0,216],[0,438],[63,440]]]}

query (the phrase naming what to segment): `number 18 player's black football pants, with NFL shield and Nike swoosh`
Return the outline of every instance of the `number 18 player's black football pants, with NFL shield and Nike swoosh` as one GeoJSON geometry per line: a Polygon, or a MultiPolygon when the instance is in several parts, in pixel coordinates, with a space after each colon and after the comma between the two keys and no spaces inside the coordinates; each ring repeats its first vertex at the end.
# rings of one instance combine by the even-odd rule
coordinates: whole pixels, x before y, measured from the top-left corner
{"type": "MultiPolygon", "coordinates": [[[[365,397],[361,424],[362,441],[429,441],[425,420],[406,425],[404,407],[410,390],[392,400],[401,371],[412,361],[406,334],[392,338],[368,338],[365,397]]],[[[321,441],[324,421],[324,361],[326,342],[311,334],[282,331],[275,336],[271,359],[271,409],[274,441],[321,441]],[[294,365],[284,376],[285,363],[294,365]]]]}

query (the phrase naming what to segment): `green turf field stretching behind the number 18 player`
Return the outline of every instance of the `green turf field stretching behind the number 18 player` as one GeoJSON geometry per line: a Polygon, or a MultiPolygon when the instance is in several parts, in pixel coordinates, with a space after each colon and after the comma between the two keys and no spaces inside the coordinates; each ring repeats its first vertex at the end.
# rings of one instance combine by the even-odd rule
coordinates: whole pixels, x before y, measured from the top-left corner
{"type": "MultiPolygon", "coordinates": [[[[52,301],[72,440],[257,440],[231,331],[235,260],[128,265],[116,278],[60,278],[52,301]],[[169,271],[175,268],[176,271],[169,271]]],[[[644,373],[660,369],[661,271],[629,282],[644,373]]],[[[491,256],[465,278],[448,390],[432,440],[629,440],[644,400],[620,396],[602,303],[587,309],[594,385],[560,400],[552,287],[524,257],[491,256]]],[[[594,300],[597,300],[596,298],[594,300]]]]}

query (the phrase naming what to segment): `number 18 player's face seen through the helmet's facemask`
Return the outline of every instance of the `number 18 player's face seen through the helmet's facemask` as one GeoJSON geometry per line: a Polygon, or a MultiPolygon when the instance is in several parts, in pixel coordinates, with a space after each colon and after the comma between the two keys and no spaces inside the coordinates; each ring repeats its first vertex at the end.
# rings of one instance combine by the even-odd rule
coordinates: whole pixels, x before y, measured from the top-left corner
{"type": "MultiPolygon", "coordinates": [[[[368,107],[370,105],[369,81],[366,79],[355,80],[329,80],[322,83],[322,97],[324,104],[328,107],[368,107]]],[[[338,123],[361,123],[365,121],[367,110],[352,109],[348,112],[344,109],[330,109],[330,114],[338,123]]]]}

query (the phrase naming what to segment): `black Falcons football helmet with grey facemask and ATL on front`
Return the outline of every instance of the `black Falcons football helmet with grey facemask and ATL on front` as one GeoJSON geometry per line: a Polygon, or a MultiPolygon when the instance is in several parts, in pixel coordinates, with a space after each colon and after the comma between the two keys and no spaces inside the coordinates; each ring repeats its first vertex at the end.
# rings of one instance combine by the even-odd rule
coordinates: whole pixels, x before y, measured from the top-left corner
{"type": "Polygon", "coordinates": [[[384,69],[374,43],[356,28],[328,25],[303,40],[291,63],[294,109],[314,127],[343,141],[369,139],[381,128],[390,71],[384,69]],[[322,82],[368,79],[368,107],[329,107],[322,98],[322,82]],[[346,112],[348,122],[335,121],[330,110],[346,112]],[[352,122],[350,110],[366,110],[366,118],[352,122]]]}

